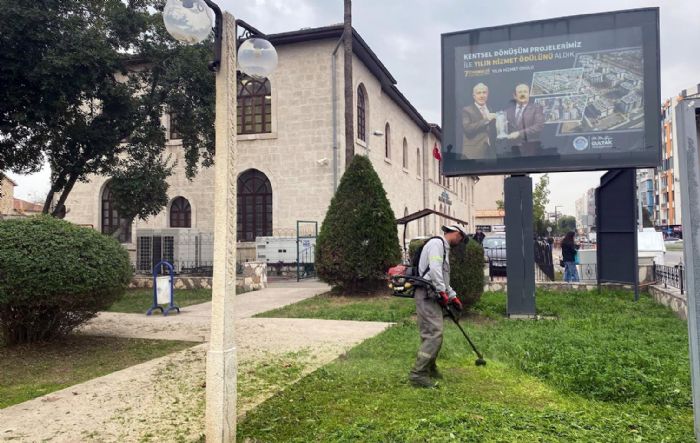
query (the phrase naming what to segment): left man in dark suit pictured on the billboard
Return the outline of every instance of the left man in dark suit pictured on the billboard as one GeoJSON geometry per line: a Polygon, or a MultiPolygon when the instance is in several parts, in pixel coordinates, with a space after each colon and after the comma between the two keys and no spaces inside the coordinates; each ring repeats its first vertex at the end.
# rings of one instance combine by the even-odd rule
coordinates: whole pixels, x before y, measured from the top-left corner
{"type": "Polygon", "coordinates": [[[462,109],[462,154],[464,158],[480,160],[496,158],[495,119],[496,114],[489,111],[486,104],[489,88],[479,83],[472,89],[474,103],[462,109]]]}

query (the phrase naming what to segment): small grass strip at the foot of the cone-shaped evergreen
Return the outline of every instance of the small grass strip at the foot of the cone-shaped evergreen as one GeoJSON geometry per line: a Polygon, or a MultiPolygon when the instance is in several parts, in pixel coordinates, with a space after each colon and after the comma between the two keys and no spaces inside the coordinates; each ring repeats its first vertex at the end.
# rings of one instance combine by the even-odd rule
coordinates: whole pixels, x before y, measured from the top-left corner
{"type": "Polygon", "coordinates": [[[326,292],[255,317],[395,322],[415,312],[413,299],[391,295],[350,297],[326,292]]]}

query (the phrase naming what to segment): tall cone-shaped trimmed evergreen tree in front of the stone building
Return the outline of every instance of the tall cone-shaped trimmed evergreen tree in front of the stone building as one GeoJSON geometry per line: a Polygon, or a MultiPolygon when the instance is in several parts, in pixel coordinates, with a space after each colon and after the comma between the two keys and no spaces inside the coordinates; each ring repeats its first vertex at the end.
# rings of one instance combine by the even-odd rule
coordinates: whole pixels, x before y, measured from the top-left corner
{"type": "Polygon", "coordinates": [[[367,157],[355,156],[331,200],[316,241],[321,280],[345,292],[384,283],[401,260],[396,218],[367,157]]]}

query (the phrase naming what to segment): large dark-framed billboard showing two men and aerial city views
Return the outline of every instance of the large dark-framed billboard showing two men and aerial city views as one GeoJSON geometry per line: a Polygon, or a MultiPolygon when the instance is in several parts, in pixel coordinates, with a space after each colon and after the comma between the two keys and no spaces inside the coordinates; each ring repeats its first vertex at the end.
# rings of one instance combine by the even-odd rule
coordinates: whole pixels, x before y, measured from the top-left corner
{"type": "Polygon", "coordinates": [[[660,163],[658,8],[442,35],[447,176],[660,163]]]}

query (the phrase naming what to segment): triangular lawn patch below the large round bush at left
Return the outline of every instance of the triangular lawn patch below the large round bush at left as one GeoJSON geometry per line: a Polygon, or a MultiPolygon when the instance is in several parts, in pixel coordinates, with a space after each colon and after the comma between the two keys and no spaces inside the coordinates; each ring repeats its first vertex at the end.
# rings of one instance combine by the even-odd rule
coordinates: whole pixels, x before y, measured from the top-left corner
{"type": "Polygon", "coordinates": [[[194,343],[73,335],[55,343],[0,344],[0,408],[162,357],[194,343]]]}

